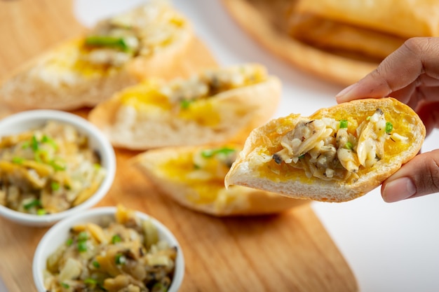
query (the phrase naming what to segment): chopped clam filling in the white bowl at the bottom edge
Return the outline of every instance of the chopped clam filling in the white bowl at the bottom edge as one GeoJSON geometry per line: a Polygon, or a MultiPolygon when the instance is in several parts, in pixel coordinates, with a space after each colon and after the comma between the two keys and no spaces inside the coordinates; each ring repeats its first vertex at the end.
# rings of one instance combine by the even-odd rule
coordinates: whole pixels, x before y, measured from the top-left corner
{"type": "Polygon", "coordinates": [[[48,292],[163,292],[172,283],[177,248],[150,220],[118,206],[115,220],[74,225],[47,259],[48,292]]]}

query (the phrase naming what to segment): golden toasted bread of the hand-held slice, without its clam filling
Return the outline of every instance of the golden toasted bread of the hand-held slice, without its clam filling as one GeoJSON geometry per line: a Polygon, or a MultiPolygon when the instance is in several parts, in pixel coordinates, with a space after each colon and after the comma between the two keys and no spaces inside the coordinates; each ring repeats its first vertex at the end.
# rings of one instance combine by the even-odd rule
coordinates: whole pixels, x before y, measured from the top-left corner
{"type": "MultiPolygon", "coordinates": [[[[381,129],[381,131],[385,130],[381,129]]],[[[380,133],[382,134],[382,132],[380,133]]],[[[248,186],[280,193],[288,197],[325,202],[349,201],[365,195],[365,193],[379,186],[382,181],[396,172],[401,165],[417,155],[425,134],[425,127],[419,116],[409,106],[391,97],[360,99],[339,104],[327,109],[320,109],[309,117],[291,114],[283,118],[273,119],[250,133],[247,141],[245,141],[243,151],[225,177],[225,183],[226,186],[248,186]],[[384,135],[389,136],[389,139],[384,142],[384,155],[379,157],[375,154],[373,157],[373,152],[366,152],[372,153],[371,159],[377,158],[378,160],[372,166],[360,165],[356,172],[349,172],[342,168],[339,171],[344,174],[344,177],[340,179],[321,179],[317,176],[306,175],[304,169],[292,167],[287,163],[290,162],[288,160],[279,161],[282,160],[279,158],[276,162],[274,159],[276,156],[273,158],[275,153],[279,153],[278,151],[284,148],[281,144],[284,135],[294,130],[295,126],[304,120],[333,118],[339,123],[339,120],[347,119],[349,123],[347,130],[356,135],[357,126],[363,121],[365,125],[372,123],[370,117],[374,115],[377,109],[384,112],[385,120],[393,125],[393,129],[388,129],[391,130],[389,134],[384,133],[384,135]]],[[[363,137],[371,136],[367,134],[363,137]]],[[[306,141],[308,138],[302,137],[300,139],[306,141]]],[[[363,146],[361,147],[365,149],[363,146]]],[[[351,152],[355,155],[365,153],[359,150],[355,144],[351,144],[347,148],[351,148],[351,152]]],[[[311,156],[310,152],[305,154],[296,153],[295,155],[297,155],[296,158],[299,164],[309,161],[311,156]],[[300,159],[304,160],[301,162],[300,159]]]]}

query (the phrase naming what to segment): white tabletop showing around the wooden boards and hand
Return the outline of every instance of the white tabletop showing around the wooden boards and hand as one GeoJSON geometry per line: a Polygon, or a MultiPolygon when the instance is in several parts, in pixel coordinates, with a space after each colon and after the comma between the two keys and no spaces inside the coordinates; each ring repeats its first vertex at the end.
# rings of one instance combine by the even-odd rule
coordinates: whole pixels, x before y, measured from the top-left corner
{"type": "MultiPolygon", "coordinates": [[[[76,0],[74,8],[79,21],[90,27],[98,18],[140,2],[76,0]]],[[[283,97],[276,116],[309,115],[336,104],[340,86],[305,74],[261,48],[219,0],[174,0],[173,4],[193,22],[196,34],[220,64],[259,62],[281,78],[283,97]]],[[[423,151],[433,150],[438,137],[435,130],[423,151]]],[[[312,206],[351,266],[360,291],[439,291],[438,195],[389,204],[377,188],[351,202],[313,202],[312,206]]]]}

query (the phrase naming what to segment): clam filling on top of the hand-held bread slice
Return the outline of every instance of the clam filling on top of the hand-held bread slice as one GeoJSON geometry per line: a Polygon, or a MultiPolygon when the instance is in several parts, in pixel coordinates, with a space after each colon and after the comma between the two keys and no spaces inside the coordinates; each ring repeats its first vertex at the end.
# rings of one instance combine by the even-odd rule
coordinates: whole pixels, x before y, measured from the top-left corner
{"type": "Polygon", "coordinates": [[[359,169],[374,167],[384,157],[388,140],[408,142],[393,131],[381,109],[360,123],[353,118],[303,119],[282,137],[282,149],[271,159],[278,165],[304,169],[307,177],[355,181],[359,169]]]}

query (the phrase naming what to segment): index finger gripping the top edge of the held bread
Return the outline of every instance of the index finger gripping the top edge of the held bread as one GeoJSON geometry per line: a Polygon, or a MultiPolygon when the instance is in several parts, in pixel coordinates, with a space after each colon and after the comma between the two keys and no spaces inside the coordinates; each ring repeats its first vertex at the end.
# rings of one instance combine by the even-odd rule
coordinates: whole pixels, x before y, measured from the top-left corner
{"type": "Polygon", "coordinates": [[[386,57],[374,71],[336,96],[337,102],[386,97],[410,84],[419,85],[426,73],[439,78],[439,38],[412,38],[386,57]]]}

